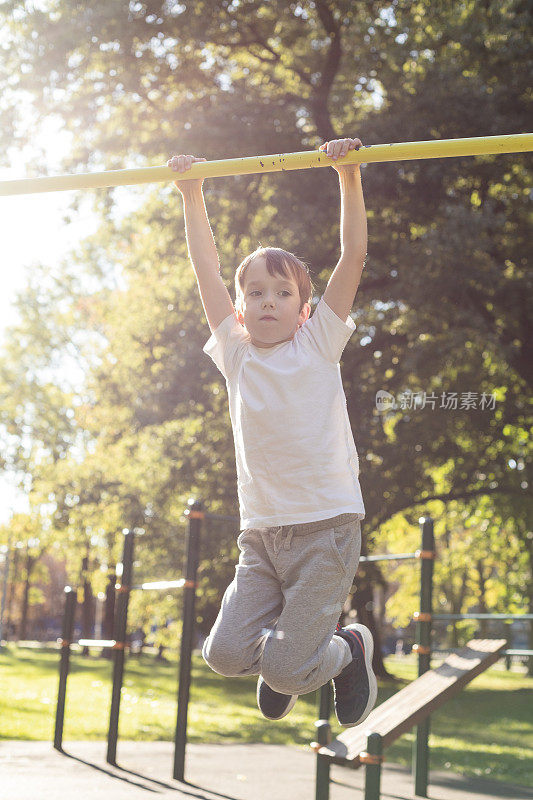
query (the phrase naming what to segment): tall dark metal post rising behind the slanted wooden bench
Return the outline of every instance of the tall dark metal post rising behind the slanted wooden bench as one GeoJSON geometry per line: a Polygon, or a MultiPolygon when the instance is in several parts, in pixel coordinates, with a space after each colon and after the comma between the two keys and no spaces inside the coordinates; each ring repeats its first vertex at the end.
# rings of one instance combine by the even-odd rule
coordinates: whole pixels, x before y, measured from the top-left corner
{"type": "MultiPolygon", "coordinates": [[[[417,620],[418,644],[414,650],[418,652],[418,676],[431,667],[431,608],[433,596],[433,560],[435,558],[435,537],[433,520],[423,517],[422,549],[419,557],[422,561],[420,569],[420,611],[415,614],[417,620]]],[[[413,773],[415,775],[415,794],[427,797],[429,771],[429,724],[427,716],[417,725],[416,739],[413,746],[413,773]]]]}

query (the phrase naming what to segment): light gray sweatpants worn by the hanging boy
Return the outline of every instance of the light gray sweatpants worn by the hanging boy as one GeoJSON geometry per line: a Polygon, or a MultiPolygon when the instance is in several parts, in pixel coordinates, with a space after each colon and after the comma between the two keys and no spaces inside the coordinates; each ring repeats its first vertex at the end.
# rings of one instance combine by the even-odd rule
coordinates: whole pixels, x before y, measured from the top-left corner
{"type": "Polygon", "coordinates": [[[283,694],[306,694],[352,658],[333,636],[361,553],[356,514],[273,528],[237,539],[235,578],[202,655],[227,677],[261,674],[283,694]]]}

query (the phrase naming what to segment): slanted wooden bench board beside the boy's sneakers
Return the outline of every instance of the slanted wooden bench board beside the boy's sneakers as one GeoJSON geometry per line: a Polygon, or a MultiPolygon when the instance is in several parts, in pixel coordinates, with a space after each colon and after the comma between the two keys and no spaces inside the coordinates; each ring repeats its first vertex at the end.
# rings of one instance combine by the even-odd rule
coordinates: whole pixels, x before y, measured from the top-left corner
{"type": "Polygon", "coordinates": [[[476,675],[499,660],[507,646],[505,639],[472,639],[436,669],[429,670],[375,708],[355,728],[347,728],[330,744],[317,748],[332,763],[361,766],[369,733],[379,733],[383,746],[416,725],[432,711],[458,694],[476,675]]]}

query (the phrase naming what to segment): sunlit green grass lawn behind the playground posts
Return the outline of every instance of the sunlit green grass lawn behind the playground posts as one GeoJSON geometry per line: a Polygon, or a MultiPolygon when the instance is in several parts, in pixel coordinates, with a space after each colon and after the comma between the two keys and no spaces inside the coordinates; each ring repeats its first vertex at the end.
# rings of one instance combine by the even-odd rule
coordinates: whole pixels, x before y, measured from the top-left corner
{"type": "MultiPolygon", "coordinates": [[[[51,740],[59,654],[9,646],[0,651],[0,739],[51,740]]],[[[380,685],[378,703],[416,677],[414,658],[390,658],[395,684],[380,685]]],[[[315,738],[318,692],[304,695],[279,722],[268,722],[255,701],[256,678],[223,678],[201,655],[193,657],[188,739],[191,742],[268,742],[307,747],[315,738]]],[[[176,725],[177,663],[152,655],[130,657],[121,701],[120,738],[171,741],[176,725]]],[[[533,679],[501,664],[477,677],[431,717],[431,768],[533,784],[533,679]]],[[[105,739],[111,663],[71,657],[64,740],[105,739]]],[[[332,733],[343,730],[332,717],[332,733]]],[[[414,731],[387,750],[387,760],[411,763],[414,731]]]]}

